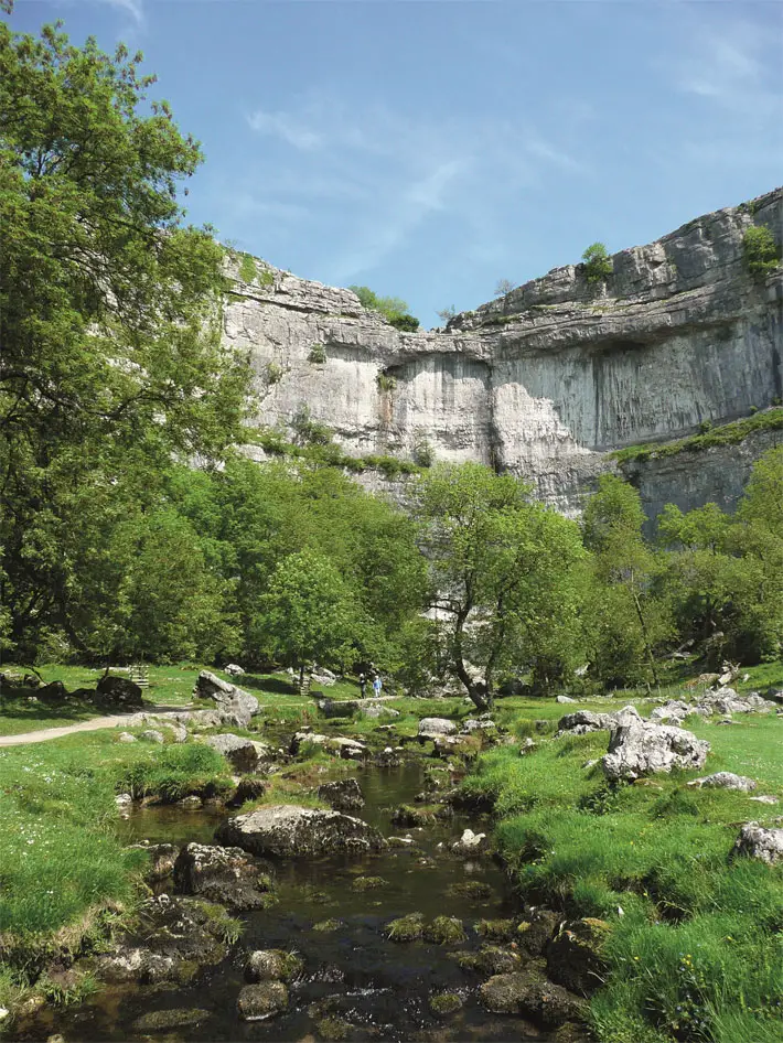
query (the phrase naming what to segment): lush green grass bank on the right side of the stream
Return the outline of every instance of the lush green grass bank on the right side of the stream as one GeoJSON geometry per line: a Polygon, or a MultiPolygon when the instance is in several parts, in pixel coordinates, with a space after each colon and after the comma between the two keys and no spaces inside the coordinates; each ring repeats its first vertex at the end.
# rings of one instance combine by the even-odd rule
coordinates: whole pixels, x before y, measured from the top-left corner
{"type": "MultiPolygon", "coordinates": [[[[535,732],[532,716],[550,707],[512,711],[515,731],[535,732]]],[[[748,774],[758,793],[783,797],[783,719],[739,720],[693,724],[712,744],[705,773],[748,774]]],[[[525,757],[494,750],[464,783],[494,798],[498,847],[528,896],[612,925],[611,972],[592,1001],[598,1037],[780,1043],[783,871],[729,861],[738,824],[772,821],[780,807],[689,789],[696,773],[612,789],[587,766],[607,740],[545,740],[525,757]]]]}

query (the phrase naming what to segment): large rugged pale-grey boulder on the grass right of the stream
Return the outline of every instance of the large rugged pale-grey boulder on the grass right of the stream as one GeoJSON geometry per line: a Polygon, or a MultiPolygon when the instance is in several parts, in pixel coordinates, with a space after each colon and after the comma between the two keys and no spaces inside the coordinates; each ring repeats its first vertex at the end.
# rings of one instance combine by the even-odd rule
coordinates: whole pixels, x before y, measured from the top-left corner
{"type": "Polygon", "coordinates": [[[601,763],[607,778],[639,778],[674,767],[704,767],[708,752],[709,743],[693,732],[640,720],[615,728],[601,763]]]}

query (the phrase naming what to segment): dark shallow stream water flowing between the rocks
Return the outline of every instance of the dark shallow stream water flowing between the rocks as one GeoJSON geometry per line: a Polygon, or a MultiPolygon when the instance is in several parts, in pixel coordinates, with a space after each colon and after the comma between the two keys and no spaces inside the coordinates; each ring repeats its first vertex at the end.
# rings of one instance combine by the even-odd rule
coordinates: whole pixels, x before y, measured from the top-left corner
{"type": "MultiPolygon", "coordinates": [[[[150,1039],[135,1029],[141,1014],[172,1008],[206,1011],[196,1025],[155,1033],[157,1040],[182,1041],[315,1041],[317,1023],[341,1018],[354,1026],[348,1040],[481,1040],[544,1041],[550,1036],[527,1021],[489,1013],[478,1002],[479,976],[463,970],[458,951],[478,949],[482,938],[473,929],[480,918],[501,918],[517,911],[504,874],[490,859],[462,861],[443,854],[439,843],[459,837],[465,827],[482,822],[457,817],[427,829],[393,826],[392,811],[411,803],[422,788],[419,762],[399,767],[367,767],[357,775],[366,806],[357,813],[385,836],[414,837],[411,849],[390,848],[363,859],[281,861],[277,865],[279,903],[262,912],[242,914],[245,929],[233,954],[205,969],[191,986],[110,987],[77,1008],[46,1012],[28,1039],[62,1033],[75,1041],[150,1039]],[[382,877],[378,890],[352,889],[358,875],[382,877]],[[489,884],[489,896],[471,899],[454,891],[469,880],[489,884]],[[407,913],[426,920],[447,914],[463,921],[468,940],[459,945],[426,942],[394,943],[385,925],[407,913]],[[326,920],[340,921],[331,932],[313,929],[326,920]],[[242,1021],[236,1011],[244,985],[243,964],[253,949],[296,949],[304,960],[303,975],[291,982],[289,1009],[269,1021],[242,1021]],[[429,1009],[432,993],[452,991],[463,1007],[447,1020],[429,1009]]],[[[228,814],[223,809],[183,810],[148,807],[124,824],[130,842],[213,842],[215,827],[228,814]]]]}

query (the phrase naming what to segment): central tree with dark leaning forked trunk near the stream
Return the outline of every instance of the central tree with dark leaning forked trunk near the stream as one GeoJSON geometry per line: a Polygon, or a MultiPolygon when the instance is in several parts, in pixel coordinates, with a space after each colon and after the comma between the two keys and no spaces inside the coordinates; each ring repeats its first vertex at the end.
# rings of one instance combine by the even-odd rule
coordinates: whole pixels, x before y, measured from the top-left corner
{"type": "Polygon", "coordinates": [[[479,464],[436,466],[419,488],[433,609],[451,668],[480,709],[501,674],[533,669],[546,684],[575,655],[579,529],[529,492],[479,464]]]}

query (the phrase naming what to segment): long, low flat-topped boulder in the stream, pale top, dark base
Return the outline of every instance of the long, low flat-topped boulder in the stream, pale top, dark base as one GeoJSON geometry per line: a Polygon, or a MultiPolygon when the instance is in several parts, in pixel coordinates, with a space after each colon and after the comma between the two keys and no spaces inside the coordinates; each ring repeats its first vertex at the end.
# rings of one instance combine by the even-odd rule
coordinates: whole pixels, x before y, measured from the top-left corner
{"type": "Polygon", "coordinates": [[[292,804],[267,805],[229,818],[218,827],[215,839],[279,858],[361,854],[385,847],[377,829],[360,818],[292,804]]]}

